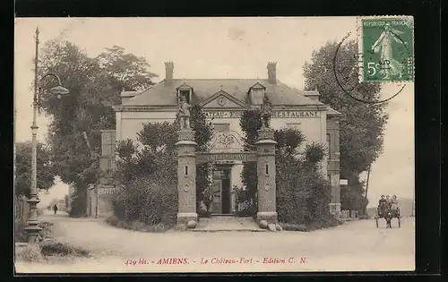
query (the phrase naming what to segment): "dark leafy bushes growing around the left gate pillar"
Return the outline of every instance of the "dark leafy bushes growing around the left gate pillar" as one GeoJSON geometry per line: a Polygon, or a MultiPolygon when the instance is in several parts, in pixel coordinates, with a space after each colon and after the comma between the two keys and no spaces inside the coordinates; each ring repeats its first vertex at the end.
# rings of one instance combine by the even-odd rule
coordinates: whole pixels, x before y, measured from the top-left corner
{"type": "MultiPolygon", "coordinates": [[[[206,150],[212,129],[200,107],[191,111],[197,150],[206,150]]],[[[178,124],[144,124],[137,141],[119,141],[115,178],[122,189],[114,200],[120,225],[138,221],[148,226],[172,226],[177,218],[177,130],[178,124]]],[[[196,168],[197,203],[209,186],[207,164],[196,168]]],[[[118,223],[117,223],[118,224],[118,223]]],[[[156,228],[157,229],[157,228],[156,228]]]]}

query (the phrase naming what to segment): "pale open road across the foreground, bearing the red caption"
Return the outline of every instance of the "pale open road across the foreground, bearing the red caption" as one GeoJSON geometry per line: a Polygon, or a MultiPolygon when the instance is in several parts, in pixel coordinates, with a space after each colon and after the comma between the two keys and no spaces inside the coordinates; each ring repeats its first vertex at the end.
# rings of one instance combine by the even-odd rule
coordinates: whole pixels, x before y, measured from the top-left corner
{"type": "Polygon", "coordinates": [[[314,232],[141,233],[108,226],[104,218],[44,215],[59,241],[91,251],[67,263],[16,261],[17,272],[264,272],[415,269],[414,218],[357,220],[314,232]],[[127,262],[127,263],[126,263],[127,262]]]}

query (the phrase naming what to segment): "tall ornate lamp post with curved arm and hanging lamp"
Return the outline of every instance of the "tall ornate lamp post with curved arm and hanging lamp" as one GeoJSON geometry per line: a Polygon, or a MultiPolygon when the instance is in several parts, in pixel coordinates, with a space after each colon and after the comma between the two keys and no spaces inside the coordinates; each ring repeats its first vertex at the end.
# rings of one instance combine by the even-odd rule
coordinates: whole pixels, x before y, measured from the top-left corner
{"type": "MultiPolygon", "coordinates": [[[[38,113],[38,106],[39,106],[39,81],[38,81],[38,50],[39,50],[39,28],[36,29],[36,54],[35,54],[35,60],[34,60],[34,97],[33,97],[33,115],[32,115],[32,124],[31,124],[31,187],[30,187],[30,199],[28,199],[28,202],[30,203],[30,217],[27,221],[27,227],[25,230],[28,233],[28,243],[29,244],[36,244],[38,243],[39,238],[39,231],[42,230],[42,228],[39,227],[39,218],[38,218],[38,179],[37,179],[37,152],[38,152],[38,141],[37,141],[37,133],[39,126],[36,124],[36,116],[38,113]]],[[[65,95],[69,93],[69,90],[65,89],[61,85],[61,79],[55,74],[55,73],[47,73],[40,81],[42,81],[47,76],[53,76],[57,80],[57,85],[53,88],[51,88],[49,91],[52,94],[57,95],[58,98],[61,97],[61,95],[65,95]]]]}

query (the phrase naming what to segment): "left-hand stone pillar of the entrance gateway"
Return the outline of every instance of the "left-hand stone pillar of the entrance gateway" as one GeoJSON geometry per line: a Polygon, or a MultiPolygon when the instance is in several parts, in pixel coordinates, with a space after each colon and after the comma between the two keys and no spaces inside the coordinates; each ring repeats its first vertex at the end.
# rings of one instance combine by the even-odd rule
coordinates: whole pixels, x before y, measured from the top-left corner
{"type": "Polygon", "coordinates": [[[177,147],[177,224],[194,228],[198,221],[196,213],[196,156],[194,131],[181,129],[177,147]]]}

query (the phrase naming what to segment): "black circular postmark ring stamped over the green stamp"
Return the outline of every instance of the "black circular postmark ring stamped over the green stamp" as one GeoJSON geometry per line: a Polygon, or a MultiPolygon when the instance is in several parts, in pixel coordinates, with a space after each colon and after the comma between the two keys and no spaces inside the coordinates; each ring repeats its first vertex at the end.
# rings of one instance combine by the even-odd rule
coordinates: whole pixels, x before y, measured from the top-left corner
{"type": "MultiPolygon", "coordinates": [[[[359,31],[360,28],[358,28],[359,31]]],[[[391,47],[388,46],[382,46],[381,49],[378,47],[377,41],[379,41],[380,38],[384,38],[383,31],[386,28],[384,27],[372,27],[372,29],[378,29],[376,30],[376,33],[371,36],[370,41],[364,40],[367,43],[373,41],[374,38],[376,38],[376,41],[374,41],[373,44],[367,44],[366,47],[363,44],[359,44],[358,42],[358,53],[353,54],[352,56],[347,56],[344,52],[341,52],[342,49],[346,49],[343,44],[346,41],[349,41],[348,38],[352,34],[349,32],[338,44],[336,47],[336,50],[334,52],[333,60],[332,60],[332,71],[334,74],[334,78],[336,81],[336,84],[339,86],[340,90],[345,95],[348,95],[350,98],[353,98],[357,100],[358,102],[366,103],[366,104],[380,104],[385,103],[392,98],[397,97],[402,90],[406,87],[407,81],[394,81],[394,80],[387,80],[387,75],[396,74],[396,77],[402,76],[403,73],[400,73],[403,69],[400,68],[404,64],[411,64],[411,66],[408,67],[409,70],[412,70],[413,72],[413,61],[409,62],[408,59],[412,58],[411,51],[409,49],[409,42],[404,41],[402,38],[400,38],[399,34],[392,33],[390,31],[390,34],[388,34],[388,40],[393,40],[395,43],[399,44],[399,47],[394,48],[394,56],[405,58],[405,61],[398,62],[397,60],[388,59],[385,55],[378,55],[378,52],[385,52],[385,50],[391,51],[391,47]],[[383,32],[383,33],[381,33],[383,32]],[[380,34],[379,36],[377,36],[380,34]],[[380,50],[381,49],[381,50],[380,50]],[[366,52],[365,52],[366,51],[366,52]],[[394,60],[394,61],[392,61],[394,60]],[[393,62],[393,63],[392,63],[393,62]],[[393,65],[392,65],[393,64],[393,65]],[[365,67],[366,66],[366,67],[365,67]],[[398,71],[397,71],[398,70],[398,71]],[[358,77],[357,76],[358,73],[358,77]],[[362,78],[366,75],[370,74],[378,74],[378,76],[383,78],[383,81],[376,80],[376,81],[364,81],[362,78]],[[357,79],[354,79],[354,78],[357,79]],[[359,78],[361,77],[361,80],[359,78]],[[397,87],[397,91],[391,95],[386,95],[387,98],[383,99],[376,99],[376,98],[365,98],[365,97],[359,97],[359,94],[357,94],[358,90],[360,88],[366,88],[366,83],[381,83],[381,82],[392,82],[394,86],[397,87]]],[[[389,32],[389,31],[388,31],[389,32]]],[[[363,35],[364,36],[364,35],[363,35]]],[[[364,38],[361,38],[360,40],[363,40],[364,38]]],[[[358,38],[359,40],[359,38],[358,38]]],[[[382,39],[383,40],[383,39],[382,39]]],[[[390,43],[390,42],[389,42],[390,43]]],[[[392,43],[390,43],[392,44],[392,43]]],[[[410,42],[412,44],[412,42],[410,42]]],[[[410,75],[410,74],[409,74],[410,75]]],[[[413,73],[412,73],[413,75],[413,73]]],[[[390,76],[389,76],[390,77],[390,76]]],[[[383,94],[384,95],[384,94],[383,94]]]]}

